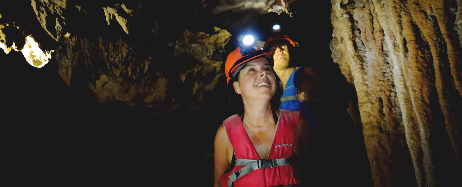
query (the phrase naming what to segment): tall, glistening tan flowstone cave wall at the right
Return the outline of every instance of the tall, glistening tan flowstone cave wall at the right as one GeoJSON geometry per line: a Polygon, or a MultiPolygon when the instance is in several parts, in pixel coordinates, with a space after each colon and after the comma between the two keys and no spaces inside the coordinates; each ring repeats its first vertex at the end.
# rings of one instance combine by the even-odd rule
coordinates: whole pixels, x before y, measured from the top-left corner
{"type": "Polygon", "coordinates": [[[461,1],[331,0],[374,186],[461,183],[461,1]]]}

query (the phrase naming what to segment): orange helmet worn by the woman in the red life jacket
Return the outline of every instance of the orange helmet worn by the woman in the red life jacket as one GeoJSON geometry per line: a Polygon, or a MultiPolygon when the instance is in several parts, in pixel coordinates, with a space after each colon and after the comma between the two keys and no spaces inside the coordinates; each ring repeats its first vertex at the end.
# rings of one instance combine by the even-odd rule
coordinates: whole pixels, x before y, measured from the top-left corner
{"type": "Polygon", "coordinates": [[[262,50],[255,50],[247,55],[241,54],[241,48],[237,47],[234,51],[228,54],[225,62],[225,75],[226,75],[226,85],[229,84],[232,74],[237,71],[237,67],[243,65],[244,63],[249,62],[255,58],[261,56],[271,56],[271,53],[265,53],[262,50]]]}

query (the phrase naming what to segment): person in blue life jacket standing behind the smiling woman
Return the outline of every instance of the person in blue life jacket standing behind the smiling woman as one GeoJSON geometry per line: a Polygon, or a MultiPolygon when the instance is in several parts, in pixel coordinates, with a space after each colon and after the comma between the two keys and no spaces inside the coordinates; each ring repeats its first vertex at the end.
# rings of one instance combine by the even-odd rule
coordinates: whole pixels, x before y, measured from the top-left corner
{"type": "Polygon", "coordinates": [[[293,66],[290,52],[296,44],[287,35],[269,37],[263,48],[274,54],[274,72],[284,90],[280,109],[300,111],[315,132],[321,124],[319,102],[325,100],[317,70],[311,66],[293,66]]]}

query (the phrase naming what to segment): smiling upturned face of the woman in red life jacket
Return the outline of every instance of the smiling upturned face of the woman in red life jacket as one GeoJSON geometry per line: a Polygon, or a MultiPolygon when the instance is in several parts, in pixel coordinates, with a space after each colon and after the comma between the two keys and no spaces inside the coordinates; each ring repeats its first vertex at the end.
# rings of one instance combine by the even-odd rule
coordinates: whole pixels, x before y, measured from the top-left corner
{"type": "Polygon", "coordinates": [[[244,99],[270,100],[276,93],[276,77],[265,58],[250,60],[233,82],[236,93],[244,99]]]}

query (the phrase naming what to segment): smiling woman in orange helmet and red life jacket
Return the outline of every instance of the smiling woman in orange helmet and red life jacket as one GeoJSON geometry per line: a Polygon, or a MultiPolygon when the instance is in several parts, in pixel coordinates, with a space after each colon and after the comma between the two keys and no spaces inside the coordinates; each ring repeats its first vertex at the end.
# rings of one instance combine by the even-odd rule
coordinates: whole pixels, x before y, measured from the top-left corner
{"type": "Polygon", "coordinates": [[[270,55],[237,48],[225,62],[226,84],[242,97],[244,113],[227,118],[217,130],[215,187],[301,184],[295,163],[308,147],[309,129],[298,112],[272,110],[278,85],[266,59],[270,55]]]}

